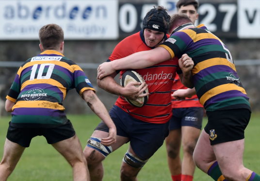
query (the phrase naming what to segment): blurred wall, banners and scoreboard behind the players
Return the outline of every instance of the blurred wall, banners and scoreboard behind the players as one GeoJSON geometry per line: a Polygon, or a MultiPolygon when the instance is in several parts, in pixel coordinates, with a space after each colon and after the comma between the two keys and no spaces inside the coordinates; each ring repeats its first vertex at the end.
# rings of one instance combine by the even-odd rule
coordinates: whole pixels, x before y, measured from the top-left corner
{"type": "MultiPolygon", "coordinates": [[[[177,0],[0,0],[0,115],[5,96],[23,61],[40,53],[38,31],[49,23],[65,32],[65,56],[79,64],[110,109],[115,95],[97,87],[97,66],[115,45],[141,30],[153,6],[176,12],[177,0]]],[[[221,38],[233,56],[253,111],[260,110],[260,0],[198,0],[198,24],[221,38]]],[[[64,105],[67,113],[89,113],[75,90],[64,105]]]]}

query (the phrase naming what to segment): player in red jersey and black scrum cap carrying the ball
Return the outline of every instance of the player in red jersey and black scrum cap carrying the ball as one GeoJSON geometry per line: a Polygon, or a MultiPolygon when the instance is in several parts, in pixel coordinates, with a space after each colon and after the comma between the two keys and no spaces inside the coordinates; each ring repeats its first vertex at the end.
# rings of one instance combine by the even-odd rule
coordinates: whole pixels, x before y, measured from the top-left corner
{"type": "MultiPolygon", "coordinates": [[[[157,47],[168,37],[169,23],[170,16],[163,7],[151,9],[144,18],[143,29],[119,42],[108,61],[113,62],[115,59],[157,47]]],[[[139,87],[135,87],[139,83],[121,87],[114,80],[116,73],[98,80],[99,87],[119,95],[109,111],[117,128],[117,141],[111,146],[99,144],[99,139],[108,134],[108,128],[103,122],[93,132],[84,149],[92,181],[102,180],[102,161],[109,153],[128,142],[130,145],[123,157],[120,177],[122,181],[135,181],[144,164],[162,146],[168,135],[168,122],[172,116],[171,88],[177,69],[178,59],[170,59],[146,69],[135,70],[146,81],[146,84],[139,87]],[[134,107],[124,98],[145,96],[142,92],[146,86],[149,99],[145,106],[134,107]]],[[[121,70],[120,74],[123,72],[125,70],[121,70]]]]}

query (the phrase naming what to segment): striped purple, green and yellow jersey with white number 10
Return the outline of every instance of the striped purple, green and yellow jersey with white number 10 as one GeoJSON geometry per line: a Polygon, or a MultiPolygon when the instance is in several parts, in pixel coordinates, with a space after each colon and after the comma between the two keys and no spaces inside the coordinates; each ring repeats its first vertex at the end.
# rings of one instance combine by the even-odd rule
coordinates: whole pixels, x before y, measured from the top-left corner
{"type": "Polygon", "coordinates": [[[68,90],[93,90],[82,69],[63,54],[47,50],[19,68],[6,99],[15,102],[11,124],[15,127],[56,127],[67,118],[63,100],[68,90]]]}

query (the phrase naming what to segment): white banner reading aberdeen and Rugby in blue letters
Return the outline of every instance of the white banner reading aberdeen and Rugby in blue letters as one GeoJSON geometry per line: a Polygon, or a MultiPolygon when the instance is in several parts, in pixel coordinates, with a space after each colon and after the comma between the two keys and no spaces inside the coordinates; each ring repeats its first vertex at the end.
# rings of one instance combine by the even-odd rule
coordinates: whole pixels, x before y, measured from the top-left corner
{"type": "Polygon", "coordinates": [[[0,40],[38,39],[60,25],[65,39],[117,39],[118,0],[0,0],[0,40]]]}

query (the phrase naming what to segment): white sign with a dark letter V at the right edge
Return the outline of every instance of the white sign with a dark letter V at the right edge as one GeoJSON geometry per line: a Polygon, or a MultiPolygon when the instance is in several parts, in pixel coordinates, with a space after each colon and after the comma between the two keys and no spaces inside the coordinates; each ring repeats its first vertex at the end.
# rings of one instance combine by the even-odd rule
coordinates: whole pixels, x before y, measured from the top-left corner
{"type": "Polygon", "coordinates": [[[238,37],[260,38],[260,0],[238,0],[238,37]]]}

